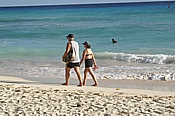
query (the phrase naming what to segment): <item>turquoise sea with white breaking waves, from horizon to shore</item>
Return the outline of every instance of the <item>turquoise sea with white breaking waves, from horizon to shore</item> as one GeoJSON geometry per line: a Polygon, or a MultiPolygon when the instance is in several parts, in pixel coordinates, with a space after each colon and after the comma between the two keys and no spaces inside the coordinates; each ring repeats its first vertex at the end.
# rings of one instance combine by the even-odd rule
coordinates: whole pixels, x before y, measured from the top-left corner
{"type": "Polygon", "coordinates": [[[80,53],[81,43],[90,41],[100,65],[98,78],[145,78],[154,73],[156,79],[173,79],[174,19],[173,1],[170,8],[168,2],[2,7],[0,74],[64,77],[61,56],[66,35],[73,33],[80,53]],[[112,38],[118,43],[112,44],[112,38]]]}

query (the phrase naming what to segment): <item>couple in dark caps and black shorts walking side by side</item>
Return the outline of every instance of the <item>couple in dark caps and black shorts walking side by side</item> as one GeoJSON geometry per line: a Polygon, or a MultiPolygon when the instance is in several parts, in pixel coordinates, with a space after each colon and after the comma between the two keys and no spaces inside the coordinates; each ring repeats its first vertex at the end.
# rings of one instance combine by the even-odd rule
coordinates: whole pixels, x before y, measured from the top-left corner
{"type": "Polygon", "coordinates": [[[77,74],[78,80],[79,80],[78,86],[86,85],[87,73],[89,73],[94,80],[94,84],[92,86],[98,86],[97,79],[92,71],[93,64],[94,64],[94,70],[97,69],[98,66],[96,64],[94,54],[90,48],[90,43],[88,41],[85,41],[83,43],[85,50],[83,51],[82,59],[80,61],[79,45],[76,41],[74,41],[74,35],[69,34],[66,37],[67,37],[68,43],[66,45],[66,51],[64,52],[62,56],[62,61],[65,62],[64,59],[70,52],[72,52],[74,58],[72,61],[66,62],[66,67],[65,67],[66,82],[63,83],[62,85],[69,85],[70,70],[74,68],[77,74]],[[84,80],[82,81],[79,67],[84,60],[85,60],[85,70],[84,70],[84,80]]]}

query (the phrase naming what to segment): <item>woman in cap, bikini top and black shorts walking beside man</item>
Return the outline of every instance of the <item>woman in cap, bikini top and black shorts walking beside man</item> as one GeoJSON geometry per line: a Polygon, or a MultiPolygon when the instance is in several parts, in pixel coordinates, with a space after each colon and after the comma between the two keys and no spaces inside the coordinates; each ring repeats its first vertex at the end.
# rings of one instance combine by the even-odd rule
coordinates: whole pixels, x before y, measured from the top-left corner
{"type": "Polygon", "coordinates": [[[83,55],[82,55],[82,59],[80,61],[80,65],[82,64],[82,62],[85,60],[85,70],[84,70],[84,81],[83,81],[83,85],[86,85],[86,79],[87,79],[87,73],[89,72],[89,74],[92,76],[92,79],[94,80],[95,84],[93,84],[92,86],[98,86],[98,82],[97,79],[92,71],[92,65],[94,64],[94,70],[96,70],[98,68],[95,58],[94,58],[94,54],[91,50],[90,47],[90,43],[88,41],[85,41],[83,43],[85,50],[83,51],[83,55]]]}

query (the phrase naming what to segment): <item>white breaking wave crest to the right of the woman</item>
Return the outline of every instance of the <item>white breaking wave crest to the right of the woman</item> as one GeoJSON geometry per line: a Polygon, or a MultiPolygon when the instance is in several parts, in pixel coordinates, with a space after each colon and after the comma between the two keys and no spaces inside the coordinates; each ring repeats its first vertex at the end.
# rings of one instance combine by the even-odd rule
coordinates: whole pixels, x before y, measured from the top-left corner
{"type": "Polygon", "coordinates": [[[124,62],[138,62],[150,64],[174,64],[175,55],[164,54],[127,54],[114,52],[101,52],[95,54],[98,59],[116,59],[124,62]]]}

